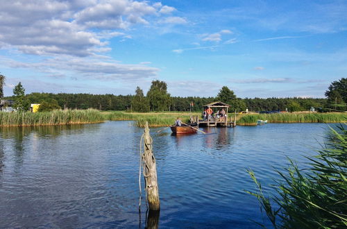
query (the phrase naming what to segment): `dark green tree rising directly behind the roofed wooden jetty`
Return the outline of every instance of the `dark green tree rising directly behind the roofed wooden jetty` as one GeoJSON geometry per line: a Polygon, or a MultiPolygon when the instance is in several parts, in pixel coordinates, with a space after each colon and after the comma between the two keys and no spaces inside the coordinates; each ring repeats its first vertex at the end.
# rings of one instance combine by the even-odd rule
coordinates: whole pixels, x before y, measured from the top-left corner
{"type": "Polygon", "coordinates": [[[231,105],[230,112],[232,112],[233,110],[236,110],[237,112],[246,110],[246,103],[244,103],[242,99],[237,98],[234,92],[227,86],[223,86],[221,90],[219,90],[219,93],[217,94],[217,100],[231,105]]]}

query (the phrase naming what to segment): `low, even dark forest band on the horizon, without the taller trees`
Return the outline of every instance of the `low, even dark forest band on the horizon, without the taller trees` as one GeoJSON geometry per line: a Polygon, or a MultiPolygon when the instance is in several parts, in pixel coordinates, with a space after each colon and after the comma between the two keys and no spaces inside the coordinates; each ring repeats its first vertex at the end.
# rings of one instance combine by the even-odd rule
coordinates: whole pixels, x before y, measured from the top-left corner
{"type": "MultiPolygon", "coordinates": [[[[8,96],[4,99],[15,99],[8,96]]],[[[67,93],[31,93],[26,94],[26,99],[30,103],[41,103],[42,101],[58,101],[61,108],[98,110],[132,110],[134,95],[114,95],[114,94],[67,94],[67,93]]],[[[171,96],[168,108],[170,111],[201,111],[203,105],[217,101],[216,97],[180,97],[171,96]]],[[[297,105],[296,110],[310,110],[314,108],[324,108],[328,99],[302,99],[302,98],[268,98],[268,99],[241,99],[246,104],[249,111],[272,111],[285,110],[297,105]]]]}

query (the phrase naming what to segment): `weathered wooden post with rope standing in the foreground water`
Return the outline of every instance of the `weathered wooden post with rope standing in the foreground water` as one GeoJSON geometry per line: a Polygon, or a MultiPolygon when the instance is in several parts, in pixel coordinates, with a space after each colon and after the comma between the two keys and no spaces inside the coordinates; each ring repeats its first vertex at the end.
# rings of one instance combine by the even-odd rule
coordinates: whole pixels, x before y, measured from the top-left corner
{"type": "Polygon", "coordinates": [[[157,166],[152,152],[152,138],[149,135],[149,123],[146,121],[144,128],[144,185],[147,193],[149,210],[160,210],[159,189],[157,180],[157,166]]]}

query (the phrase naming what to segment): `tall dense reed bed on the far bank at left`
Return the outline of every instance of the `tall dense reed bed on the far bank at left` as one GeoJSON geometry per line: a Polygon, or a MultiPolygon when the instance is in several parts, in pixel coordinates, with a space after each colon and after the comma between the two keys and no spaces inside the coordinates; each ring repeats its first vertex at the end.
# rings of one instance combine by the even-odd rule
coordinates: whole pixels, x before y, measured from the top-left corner
{"type": "Polygon", "coordinates": [[[105,121],[99,110],[53,110],[51,112],[0,112],[0,126],[91,124],[105,121]]]}

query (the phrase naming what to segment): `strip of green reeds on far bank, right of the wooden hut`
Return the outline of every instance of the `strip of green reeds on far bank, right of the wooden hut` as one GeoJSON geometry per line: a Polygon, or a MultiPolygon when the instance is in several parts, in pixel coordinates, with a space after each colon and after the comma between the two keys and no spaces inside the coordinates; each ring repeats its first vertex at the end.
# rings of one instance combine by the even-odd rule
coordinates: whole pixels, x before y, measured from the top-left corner
{"type": "Polygon", "coordinates": [[[244,114],[237,120],[238,125],[253,126],[257,120],[270,123],[344,123],[347,113],[276,113],[276,114],[244,114]]]}

